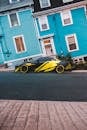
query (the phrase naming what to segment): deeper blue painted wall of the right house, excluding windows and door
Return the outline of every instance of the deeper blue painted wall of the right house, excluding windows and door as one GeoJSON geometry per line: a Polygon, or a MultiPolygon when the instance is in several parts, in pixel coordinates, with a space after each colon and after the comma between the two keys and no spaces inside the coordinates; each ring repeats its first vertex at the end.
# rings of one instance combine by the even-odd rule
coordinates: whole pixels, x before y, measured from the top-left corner
{"type": "Polygon", "coordinates": [[[38,30],[40,36],[54,34],[54,44],[58,55],[63,51],[64,55],[68,53],[65,36],[69,34],[76,34],[79,50],[70,52],[72,57],[87,55],[87,19],[84,7],[71,10],[73,24],[63,26],[60,13],[48,15],[48,22],[50,29],[47,31],[40,31],[37,19],[38,30]]]}

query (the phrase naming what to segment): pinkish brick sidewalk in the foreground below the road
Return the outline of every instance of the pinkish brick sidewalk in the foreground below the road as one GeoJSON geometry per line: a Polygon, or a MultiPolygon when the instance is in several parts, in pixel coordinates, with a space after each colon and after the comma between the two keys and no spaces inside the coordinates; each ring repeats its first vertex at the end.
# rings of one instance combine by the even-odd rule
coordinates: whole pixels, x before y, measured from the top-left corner
{"type": "Polygon", "coordinates": [[[87,130],[87,102],[0,100],[0,130],[87,130]]]}

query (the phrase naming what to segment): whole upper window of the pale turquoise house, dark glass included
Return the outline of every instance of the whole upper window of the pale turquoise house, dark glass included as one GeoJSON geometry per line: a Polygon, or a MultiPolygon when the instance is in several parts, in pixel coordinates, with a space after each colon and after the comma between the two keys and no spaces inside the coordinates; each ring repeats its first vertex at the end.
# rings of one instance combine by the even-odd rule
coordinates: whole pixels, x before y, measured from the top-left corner
{"type": "Polygon", "coordinates": [[[18,26],[19,25],[19,18],[17,13],[12,13],[9,14],[9,21],[10,21],[10,26],[18,26]]]}

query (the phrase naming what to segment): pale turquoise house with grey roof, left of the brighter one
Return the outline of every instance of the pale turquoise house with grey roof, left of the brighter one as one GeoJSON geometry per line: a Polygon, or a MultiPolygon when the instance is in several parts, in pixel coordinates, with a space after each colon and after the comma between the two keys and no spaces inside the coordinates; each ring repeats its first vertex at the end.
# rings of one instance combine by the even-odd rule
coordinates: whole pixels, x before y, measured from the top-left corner
{"type": "Polygon", "coordinates": [[[0,64],[41,55],[32,0],[0,0],[0,64]]]}

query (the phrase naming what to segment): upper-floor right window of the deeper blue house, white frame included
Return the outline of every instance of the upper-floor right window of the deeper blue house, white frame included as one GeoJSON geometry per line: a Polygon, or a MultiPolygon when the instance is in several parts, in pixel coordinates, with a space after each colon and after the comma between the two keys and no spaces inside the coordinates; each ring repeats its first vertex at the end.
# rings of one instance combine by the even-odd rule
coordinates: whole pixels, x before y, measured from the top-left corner
{"type": "Polygon", "coordinates": [[[63,26],[73,24],[71,12],[69,10],[61,12],[63,26]]]}

